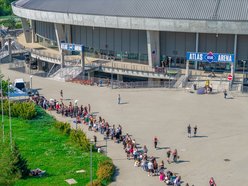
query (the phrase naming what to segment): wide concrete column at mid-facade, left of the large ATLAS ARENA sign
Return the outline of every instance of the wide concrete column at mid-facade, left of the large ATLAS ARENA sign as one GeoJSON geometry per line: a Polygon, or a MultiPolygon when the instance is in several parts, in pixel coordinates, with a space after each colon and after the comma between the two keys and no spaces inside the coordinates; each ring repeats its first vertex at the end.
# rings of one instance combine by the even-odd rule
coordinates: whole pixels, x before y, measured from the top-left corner
{"type": "Polygon", "coordinates": [[[159,43],[159,31],[146,31],[147,35],[147,52],[148,52],[148,64],[150,67],[160,65],[160,43],[159,43]]]}

